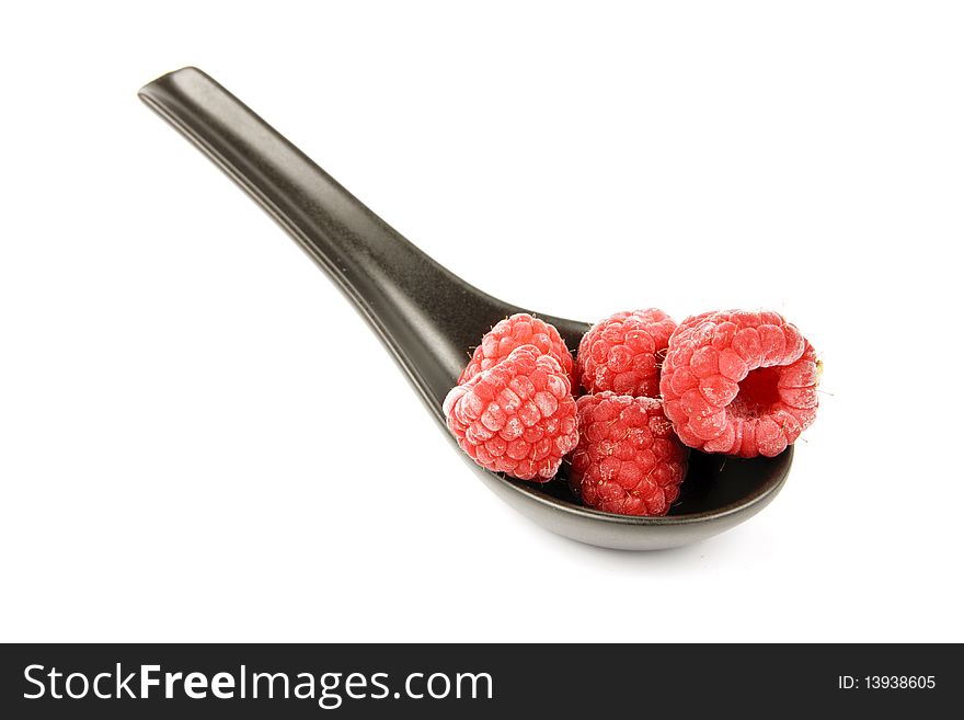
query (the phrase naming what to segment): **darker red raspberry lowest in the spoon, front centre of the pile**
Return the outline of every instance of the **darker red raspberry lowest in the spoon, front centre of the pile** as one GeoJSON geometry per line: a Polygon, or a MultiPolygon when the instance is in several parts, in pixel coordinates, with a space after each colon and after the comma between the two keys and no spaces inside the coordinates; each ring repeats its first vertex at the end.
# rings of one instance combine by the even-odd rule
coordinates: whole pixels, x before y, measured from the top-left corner
{"type": "Polygon", "coordinates": [[[679,496],[689,450],[654,398],[613,392],[577,401],[574,488],[590,507],[620,515],[665,515],[679,496]]]}

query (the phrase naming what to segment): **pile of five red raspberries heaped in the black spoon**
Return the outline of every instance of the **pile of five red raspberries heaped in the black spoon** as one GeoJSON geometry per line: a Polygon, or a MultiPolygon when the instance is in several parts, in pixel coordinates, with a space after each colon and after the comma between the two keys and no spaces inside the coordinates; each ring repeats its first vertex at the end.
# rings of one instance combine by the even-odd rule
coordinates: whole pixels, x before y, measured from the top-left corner
{"type": "Polygon", "coordinates": [[[443,410],[489,470],[548,482],[567,458],[585,505],[665,515],[690,448],[772,457],[793,444],[816,416],[819,372],[776,312],[679,325],[656,308],[617,312],[583,336],[575,363],[555,328],[519,313],[482,339],[443,410]]]}

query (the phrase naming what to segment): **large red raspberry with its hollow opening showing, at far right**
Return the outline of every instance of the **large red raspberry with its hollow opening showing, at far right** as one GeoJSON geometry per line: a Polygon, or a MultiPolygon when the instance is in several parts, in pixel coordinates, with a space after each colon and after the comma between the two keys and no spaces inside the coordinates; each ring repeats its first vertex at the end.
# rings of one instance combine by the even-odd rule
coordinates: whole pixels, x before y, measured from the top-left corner
{"type": "Polygon", "coordinates": [[[773,457],[813,423],[818,375],[810,342],[776,312],[704,312],[669,340],[659,389],[690,447],[773,457]]]}

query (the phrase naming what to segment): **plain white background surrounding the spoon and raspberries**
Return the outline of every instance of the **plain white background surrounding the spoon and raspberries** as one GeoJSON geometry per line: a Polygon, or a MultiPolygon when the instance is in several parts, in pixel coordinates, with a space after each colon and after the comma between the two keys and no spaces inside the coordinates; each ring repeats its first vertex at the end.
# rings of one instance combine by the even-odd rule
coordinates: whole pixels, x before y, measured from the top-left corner
{"type": "Polygon", "coordinates": [[[960,5],[661,4],[8,8],[0,638],[964,640],[960,5]],[[516,515],[137,100],[184,65],[496,296],[783,312],[783,492],[658,553],[516,515]]]}

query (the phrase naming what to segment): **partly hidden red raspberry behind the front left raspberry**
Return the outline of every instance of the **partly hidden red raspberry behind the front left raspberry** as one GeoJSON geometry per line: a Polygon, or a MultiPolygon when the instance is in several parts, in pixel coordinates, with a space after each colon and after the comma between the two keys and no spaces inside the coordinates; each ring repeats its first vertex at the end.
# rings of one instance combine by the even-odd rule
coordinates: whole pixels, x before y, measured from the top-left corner
{"type": "Polygon", "coordinates": [[[459,385],[471,380],[479,373],[495,367],[508,357],[516,347],[535,345],[541,355],[554,357],[562,369],[573,381],[573,362],[565,341],[559,331],[538,318],[525,312],[519,312],[505,320],[498,321],[492,330],[482,338],[482,344],[475,348],[472,359],[459,376],[459,385]]]}

